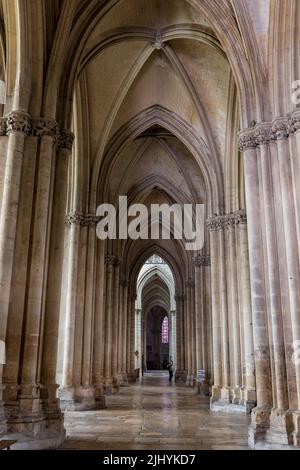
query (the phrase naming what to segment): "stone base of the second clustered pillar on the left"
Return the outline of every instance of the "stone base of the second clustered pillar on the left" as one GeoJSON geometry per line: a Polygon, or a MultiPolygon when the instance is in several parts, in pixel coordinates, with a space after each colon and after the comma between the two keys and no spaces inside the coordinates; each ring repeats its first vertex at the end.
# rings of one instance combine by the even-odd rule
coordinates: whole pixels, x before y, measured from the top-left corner
{"type": "Polygon", "coordinates": [[[61,388],[58,392],[60,407],[63,411],[88,411],[103,408],[103,400],[98,390],[91,386],[61,388]]]}

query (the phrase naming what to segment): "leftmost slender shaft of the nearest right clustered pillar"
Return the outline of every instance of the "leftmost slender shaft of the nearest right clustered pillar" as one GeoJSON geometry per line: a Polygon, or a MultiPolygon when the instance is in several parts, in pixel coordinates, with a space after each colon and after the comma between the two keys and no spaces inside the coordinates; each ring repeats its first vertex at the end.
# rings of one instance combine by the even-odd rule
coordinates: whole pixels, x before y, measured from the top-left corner
{"type": "Polygon", "coordinates": [[[259,184],[258,154],[255,131],[250,129],[240,135],[240,150],[244,152],[245,190],[248,217],[248,244],[250,284],[252,298],[253,338],[257,387],[257,407],[252,410],[249,444],[264,437],[269,427],[272,406],[270,377],[270,349],[266,305],[264,253],[261,224],[261,188],[259,184]]]}

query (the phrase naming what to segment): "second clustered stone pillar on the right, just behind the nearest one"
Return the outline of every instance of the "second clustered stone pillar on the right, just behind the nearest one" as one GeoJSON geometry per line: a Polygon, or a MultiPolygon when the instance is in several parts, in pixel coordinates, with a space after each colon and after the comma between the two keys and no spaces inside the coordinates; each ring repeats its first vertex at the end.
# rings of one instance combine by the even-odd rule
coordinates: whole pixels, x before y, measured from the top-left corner
{"type": "Polygon", "coordinates": [[[211,252],[213,387],[211,409],[249,412],[256,401],[247,218],[208,221],[211,252]]]}

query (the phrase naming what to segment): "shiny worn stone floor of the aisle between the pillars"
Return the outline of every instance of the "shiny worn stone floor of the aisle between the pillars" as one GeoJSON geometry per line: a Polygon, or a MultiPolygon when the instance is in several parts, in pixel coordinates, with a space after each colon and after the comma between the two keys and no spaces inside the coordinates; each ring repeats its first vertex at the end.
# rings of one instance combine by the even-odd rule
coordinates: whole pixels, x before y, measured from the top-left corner
{"type": "Polygon", "coordinates": [[[245,415],[211,413],[206,397],[152,374],[107,397],[107,409],[67,412],[62,449],[247,449],[245,415]]]}

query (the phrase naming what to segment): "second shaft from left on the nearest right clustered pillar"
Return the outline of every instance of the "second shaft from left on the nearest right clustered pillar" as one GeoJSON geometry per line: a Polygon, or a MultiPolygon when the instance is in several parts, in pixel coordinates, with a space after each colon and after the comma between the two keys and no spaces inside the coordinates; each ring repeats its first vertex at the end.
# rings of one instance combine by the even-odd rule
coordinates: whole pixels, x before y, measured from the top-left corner
{"type": "MultiPolygon", "coordinates": [[[[268,299],[270,311],[271,338],[270,346],[272,352],[272,380],[273,380],[273,407],[270,415],[270,430],[267,439],[273,440],[273,435],[281,434],[281,442],[288,444],[287,427],[289,417],[286,414],[288,408],[288,394],[286,381],[285,346],[283,336],[283,318],[280,295],[279,275],[279,252],[276,234],[277,219],[274,207],[274,184],[273,184],[273,162],[271,162],[270,140],[271,129],[269,124],[259,125],[256,130],[257,143],[259,145],[261,165],[261,188],[262,203],[264,208],[265,228],[265,259],[268,279],[268,299]]],[[[280,147],[281,132],[278,132],[277,145],[280,147]]],[[[273,140],[273,139],[272,139],[273,140]]],[[[272,144],[275,145],[275,144],[272,144]]],[[[278,149],[279,150],[279,149],[278,149]]],[[[280,153],[280,152],[279,152],[280,153]]],[[[287,154],[283,155],[284,158],[287,154]]],[[[280,165],[279,165],[280,166],[280,165]]],[[[291,183],[291,181],[290,181],[291,183]]]]}

